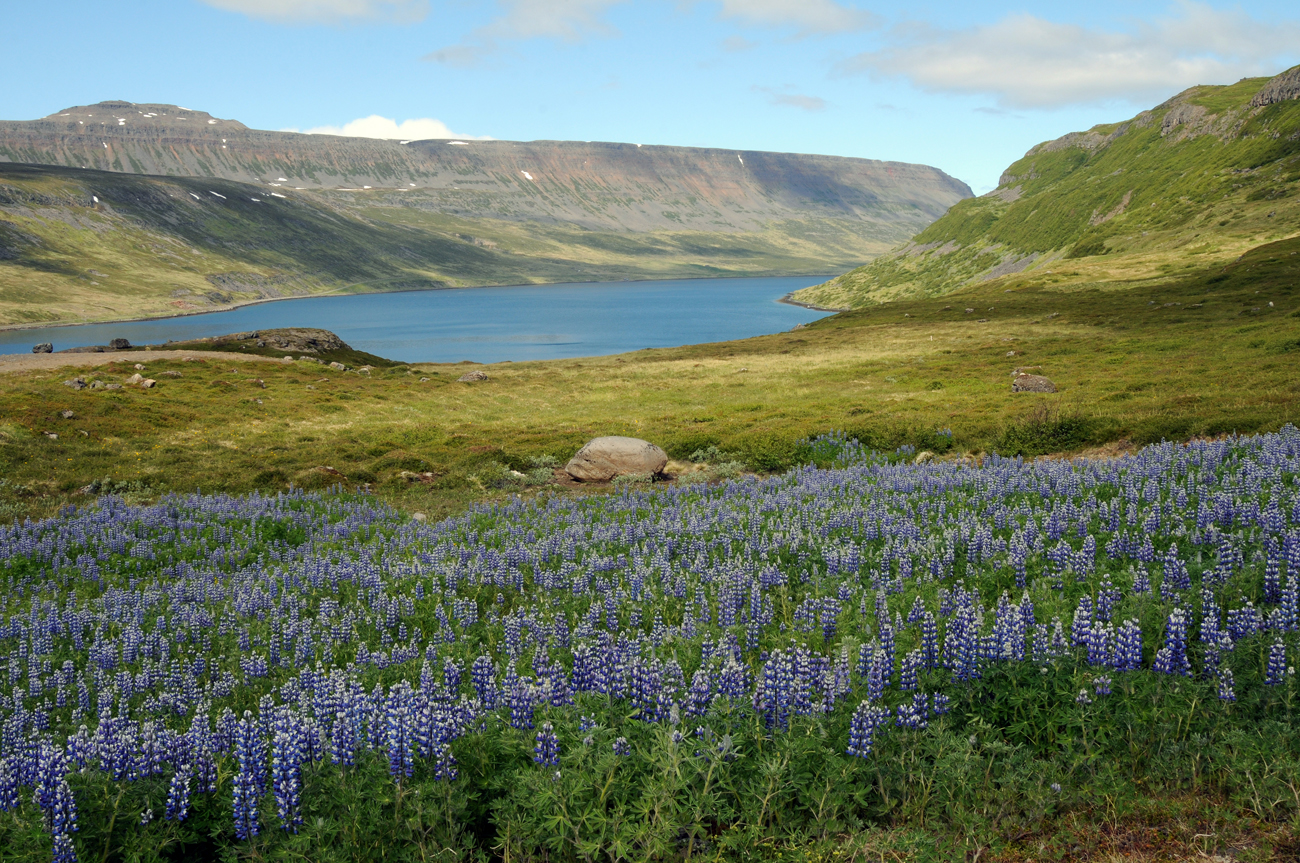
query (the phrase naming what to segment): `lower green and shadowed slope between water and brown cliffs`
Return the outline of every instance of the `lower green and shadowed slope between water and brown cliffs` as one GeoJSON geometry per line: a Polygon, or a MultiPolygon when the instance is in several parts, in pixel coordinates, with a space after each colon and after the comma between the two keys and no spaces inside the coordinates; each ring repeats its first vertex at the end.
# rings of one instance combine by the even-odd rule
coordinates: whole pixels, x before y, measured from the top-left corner
{"type": "Polygon", "coordinates": [[[0,325],[321,292],[827,273],[862,260],[874,240],[858,229],[789,220],[744,233],[599,231],[228,179],[0,164],[0,325]]]}

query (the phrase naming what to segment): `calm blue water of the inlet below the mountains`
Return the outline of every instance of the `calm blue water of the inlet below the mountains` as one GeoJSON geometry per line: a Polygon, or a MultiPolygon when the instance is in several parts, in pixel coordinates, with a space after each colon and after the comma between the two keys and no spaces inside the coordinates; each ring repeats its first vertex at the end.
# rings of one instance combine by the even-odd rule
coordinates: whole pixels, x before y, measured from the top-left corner
{"type": "Polygon", "coordinates": [[[108,344],[161,344],[277,326],[316,326],[354,348],[408,363],[499,363],[621,354],[723,342],[824,317],[780,296],[824,277],[595,282],[321,296],[231,312],[126,324],[0,330],[0,354],[108,344]]]}

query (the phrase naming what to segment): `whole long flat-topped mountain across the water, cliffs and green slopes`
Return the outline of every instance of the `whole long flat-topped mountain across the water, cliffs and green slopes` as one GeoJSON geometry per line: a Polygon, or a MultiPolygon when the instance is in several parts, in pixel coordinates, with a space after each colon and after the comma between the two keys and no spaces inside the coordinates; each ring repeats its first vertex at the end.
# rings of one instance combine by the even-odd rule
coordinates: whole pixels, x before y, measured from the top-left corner
{"type": "Polygon", "coordinates": [[[831,273],[970,194],[867,159],[399,143],[105,101],[0,122],[0,325],[341,290],[831,273]]]}

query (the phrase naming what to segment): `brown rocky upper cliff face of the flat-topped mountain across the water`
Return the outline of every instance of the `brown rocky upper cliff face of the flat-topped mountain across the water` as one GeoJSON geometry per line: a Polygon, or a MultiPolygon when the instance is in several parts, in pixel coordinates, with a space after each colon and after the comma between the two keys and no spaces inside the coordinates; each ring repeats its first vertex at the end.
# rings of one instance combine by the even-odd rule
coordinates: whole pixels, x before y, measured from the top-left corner
{"type": "Polygon", "coordinates": [[[890,242],[971,195],[935,168],[904,162],[616,143],[403,144],[260,131],[125,101],[0,122],[0,161],[338,191],[360,205],[593,230],[751,231],[831,218],[890,242]]]}

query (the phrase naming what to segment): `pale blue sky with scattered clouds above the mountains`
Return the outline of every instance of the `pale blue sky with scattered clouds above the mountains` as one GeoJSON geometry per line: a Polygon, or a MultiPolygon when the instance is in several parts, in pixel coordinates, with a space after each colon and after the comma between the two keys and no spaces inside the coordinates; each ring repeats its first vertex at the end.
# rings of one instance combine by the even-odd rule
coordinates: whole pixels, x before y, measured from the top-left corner
{"type": "Polygon", "coordinates": [[[0,118],[107,99],[256,129],[935,165],[1300,62],[1294,0],[14,0],[0,118]],[[21,38],[20,38],[21,34],[21,38]]]}

